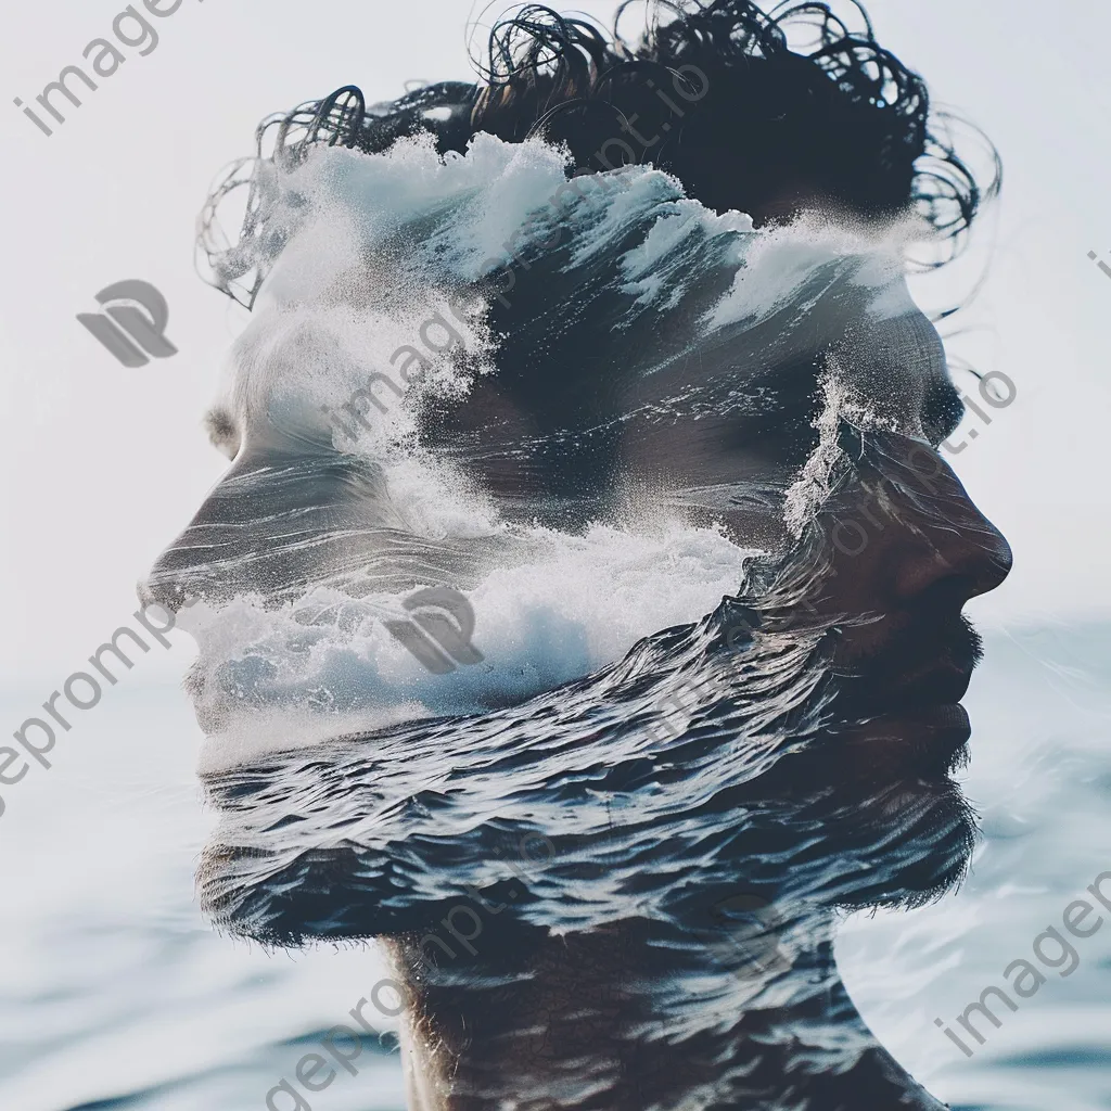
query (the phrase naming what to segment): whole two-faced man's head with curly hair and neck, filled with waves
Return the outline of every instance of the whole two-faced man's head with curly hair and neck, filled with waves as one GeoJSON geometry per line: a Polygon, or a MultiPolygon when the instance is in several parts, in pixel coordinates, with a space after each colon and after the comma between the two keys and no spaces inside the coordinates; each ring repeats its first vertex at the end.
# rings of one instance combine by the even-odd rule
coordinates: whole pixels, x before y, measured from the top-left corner
{"type": "Polygon", "coordinates": [[[892,56],[898,110],[844,79],[843,24],[801,56],[752,4],[683,11],[634,54],[529,9],[484,86],[291,113],[216,268],[254,282],[231,466],[144,587],[203,602],[202,899],[270,943],[388,939],[414,1108],[507,1075],[764,1105],[823,1022],[867,1075],[798,1105],[937,1105],[830,937],[975,839],[962,610],[1011,556],[939,454],[962,407],[904,263],[955,227],[918,160],[955,156],[892,56]],[[565,192],[614,129],[631,157],[565,192]],[[507,833],[553,847],[512,887],[507,833]],[[459,889],[500,909],[429,965],[459,889]]]}

